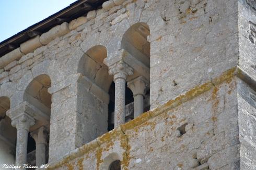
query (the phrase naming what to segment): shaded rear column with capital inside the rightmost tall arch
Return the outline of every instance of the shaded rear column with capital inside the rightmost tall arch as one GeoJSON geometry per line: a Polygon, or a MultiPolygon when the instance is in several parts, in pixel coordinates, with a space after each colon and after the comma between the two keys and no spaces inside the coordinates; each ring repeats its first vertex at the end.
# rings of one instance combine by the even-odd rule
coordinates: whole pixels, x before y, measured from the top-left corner
{"type": "Polygon", "coordinates": [[[127,86],[132,90],[134,97],[134,118],[144,112],[144,96],[148,82],[143,76],[139,76],[127,83],[127,86]]]}

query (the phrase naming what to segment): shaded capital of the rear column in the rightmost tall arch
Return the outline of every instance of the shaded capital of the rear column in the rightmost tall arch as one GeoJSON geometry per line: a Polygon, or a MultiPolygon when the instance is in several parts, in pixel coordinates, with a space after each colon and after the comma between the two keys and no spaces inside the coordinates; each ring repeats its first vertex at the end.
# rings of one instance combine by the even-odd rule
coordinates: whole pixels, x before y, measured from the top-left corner
{"type": "Polygon", "coordinates": [[[143,95],[147,89],[149,88],[149,82],[143,76],[138,76],[137,78],[133,79],[132,81],[127,82],[127,87],[130,88],[133,92],[133,96],[136,95],[143,95]]]}

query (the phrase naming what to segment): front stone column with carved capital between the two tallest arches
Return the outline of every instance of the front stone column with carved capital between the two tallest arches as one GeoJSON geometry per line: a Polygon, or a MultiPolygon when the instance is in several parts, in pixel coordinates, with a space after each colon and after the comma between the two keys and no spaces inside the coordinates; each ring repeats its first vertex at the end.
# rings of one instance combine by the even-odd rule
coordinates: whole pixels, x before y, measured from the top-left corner
{"type": "Polygon", "coordinates": [[[118,127],[125,123],[125,83],[127,76],[133,74],[133,69],[121,60],[109,67],[109,74],[114,76],[114,127],[118,127]]]}

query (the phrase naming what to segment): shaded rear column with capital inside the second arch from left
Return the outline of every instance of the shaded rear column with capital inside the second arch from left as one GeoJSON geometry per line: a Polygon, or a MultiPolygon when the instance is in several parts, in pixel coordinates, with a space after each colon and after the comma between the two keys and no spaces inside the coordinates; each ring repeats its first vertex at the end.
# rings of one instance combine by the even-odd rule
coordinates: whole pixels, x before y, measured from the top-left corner
{"type": "Polygon", "coordinates": [[[44,126],[31,133],[31,137],[36,141],[36,166],[38,167],[46,163],[47,134],[44,126]]]}

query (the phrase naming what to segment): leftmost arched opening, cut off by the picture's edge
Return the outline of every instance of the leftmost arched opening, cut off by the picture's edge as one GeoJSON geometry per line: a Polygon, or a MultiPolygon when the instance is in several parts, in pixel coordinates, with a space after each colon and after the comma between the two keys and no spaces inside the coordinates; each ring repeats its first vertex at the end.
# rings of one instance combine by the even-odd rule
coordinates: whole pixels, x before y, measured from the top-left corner
{"type": "Polygon", "coordinates": [[[6,116],[9,109],[9,98],[0,97],[0,166],[15,164],[16,128],[11,126],[11,120],[6,116]]]}

